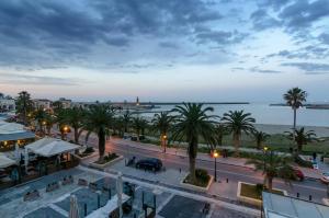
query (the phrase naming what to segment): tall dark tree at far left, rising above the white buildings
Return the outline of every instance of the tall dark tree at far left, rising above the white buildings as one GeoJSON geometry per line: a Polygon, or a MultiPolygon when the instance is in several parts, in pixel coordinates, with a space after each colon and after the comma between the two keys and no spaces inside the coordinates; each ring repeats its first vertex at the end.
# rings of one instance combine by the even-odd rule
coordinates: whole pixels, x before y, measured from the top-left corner
{"type": "Polygon", "coordinates": [[[33,102],[31,100],[31,95],[26,91],[22,91],[19,93],[19,97],[16,100],[16,113],[20,118],[23,121],[24,125],[27,125],[27,117],[32,116],[33,112],[33,102]]]}

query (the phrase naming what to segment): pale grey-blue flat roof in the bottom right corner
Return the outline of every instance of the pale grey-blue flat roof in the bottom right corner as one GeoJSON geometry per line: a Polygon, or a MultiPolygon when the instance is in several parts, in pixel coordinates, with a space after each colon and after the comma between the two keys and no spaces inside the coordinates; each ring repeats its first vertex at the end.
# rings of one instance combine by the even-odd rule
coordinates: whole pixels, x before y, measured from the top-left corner
{"type": "Polygon", "coordinates": [[[263,192],[264,218],[325,218],[329,207],[288,196],[263,192]]]}

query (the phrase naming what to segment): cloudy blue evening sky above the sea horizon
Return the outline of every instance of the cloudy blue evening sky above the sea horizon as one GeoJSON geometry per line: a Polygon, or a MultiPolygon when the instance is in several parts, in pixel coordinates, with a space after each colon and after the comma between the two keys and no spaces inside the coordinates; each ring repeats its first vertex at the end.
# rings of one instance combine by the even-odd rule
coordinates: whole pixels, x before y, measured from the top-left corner
{"type": "Polygon", "coordinates": [[[329,0],[2,0],[0,92],[329,101],[329,0]]]}

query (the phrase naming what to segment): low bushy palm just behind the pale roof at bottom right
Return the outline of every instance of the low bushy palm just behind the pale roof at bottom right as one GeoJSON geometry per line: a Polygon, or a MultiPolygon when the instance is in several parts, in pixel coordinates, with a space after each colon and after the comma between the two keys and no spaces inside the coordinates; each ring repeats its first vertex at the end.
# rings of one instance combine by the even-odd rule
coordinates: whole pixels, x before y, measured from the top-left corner
{"type": "Polygon", "coordinates": [[[288,164],[290,162],[290,158],[276,156],[273,151],[270,151],[270,154],[265,152],[262,159],[250,159],[246,164],[253,164],[257,171],[262,171],[264,185],[272,191],[274,177],[282,177],[288,183],[296,177],[294,169],[288,164]]]}

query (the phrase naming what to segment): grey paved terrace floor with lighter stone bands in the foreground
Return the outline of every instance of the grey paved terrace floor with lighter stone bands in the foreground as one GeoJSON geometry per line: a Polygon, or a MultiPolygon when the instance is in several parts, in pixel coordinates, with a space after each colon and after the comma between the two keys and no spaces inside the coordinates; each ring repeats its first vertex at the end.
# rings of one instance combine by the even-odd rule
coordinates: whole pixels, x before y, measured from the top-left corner
{"type": "MultiPolygon", "coordinates": [[[[75,168],[60,171],[52,175],[44,176],[37,181],[4,190],[0,192],[0,217],[14,218],[66,218],[69,213],[69,196],[75,194],[78,198],[80,214],[83,215],[83,205],[87,204],[88,214],[97,209],[98,194],[84,186],[78,186],[78,179],[84,179],[97,183],[98,187],[106,186],[115,194],[115,175],[99,172],[86,168],[75,168]],[[72,175],[75,183],[59,187],[52,193],[46,193],[45,187],[48,183],[60,181],[64,176],[72,175]],[[23,202],[23,195],[32,190],[38,190],[41,197],[34,202],[23,202]]],[[[154,204],[154,193],[157,194],[156,207],[159,218],[252,218],[258,215],[256,210],[241,206],[228,205],[227,203],[216,202],[203,196],[183,193],[173,188],[161,187],[154,184],[143,183],[124,177],[125,182],[136,184],[135,198],[133,202],[133,213],[125,215],[125,218],[134,217],[134,213],[140,214],[141,195],[148,205],[154,204]],[[157,192],[155,192],[157,191],[157,192]],[[205,202],[212,204],[211,213],[207,216],[202,214],[205,202]]],[[[107,193],[101,194],[101,206],[109,199],[107,193]]],[[[83,216],[82,216],[83,217],[83,216]]]]}

